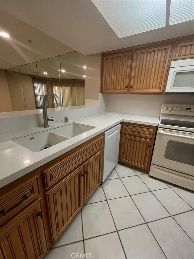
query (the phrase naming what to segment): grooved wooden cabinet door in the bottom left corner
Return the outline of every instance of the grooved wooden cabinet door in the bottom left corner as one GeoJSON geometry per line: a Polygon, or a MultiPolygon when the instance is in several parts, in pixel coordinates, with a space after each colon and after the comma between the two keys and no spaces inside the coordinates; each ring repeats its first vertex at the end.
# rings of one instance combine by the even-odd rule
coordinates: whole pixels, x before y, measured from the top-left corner
{"type": "Polygon", "coordinates": [[[46,253],[46,241],[40,203],[28,206],[13,221],[8,222],[0,234],[3,258],[42,258],[46,253]]]}

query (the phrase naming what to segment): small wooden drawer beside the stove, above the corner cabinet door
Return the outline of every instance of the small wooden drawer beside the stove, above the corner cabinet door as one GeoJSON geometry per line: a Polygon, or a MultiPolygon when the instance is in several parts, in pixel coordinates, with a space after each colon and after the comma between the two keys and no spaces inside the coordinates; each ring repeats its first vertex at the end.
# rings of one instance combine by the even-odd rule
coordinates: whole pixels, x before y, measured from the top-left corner
{"type": "Polygon", "coordinates": [[[156,127],[142,124],[123,123],[122,134],[135,137],[152,139],[155,136],[156,127]]]}

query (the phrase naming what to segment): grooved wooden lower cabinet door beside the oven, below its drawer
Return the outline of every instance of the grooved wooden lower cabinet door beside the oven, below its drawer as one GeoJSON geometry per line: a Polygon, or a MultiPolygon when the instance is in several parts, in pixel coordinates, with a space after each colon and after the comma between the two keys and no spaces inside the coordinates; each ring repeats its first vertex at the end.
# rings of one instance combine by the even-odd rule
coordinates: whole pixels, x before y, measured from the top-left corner
{"type": "Polygon", "coordinates": [[[120,161],[141,169],[149,168],[152,141],[144,138],[122,135],[120,161]]]}

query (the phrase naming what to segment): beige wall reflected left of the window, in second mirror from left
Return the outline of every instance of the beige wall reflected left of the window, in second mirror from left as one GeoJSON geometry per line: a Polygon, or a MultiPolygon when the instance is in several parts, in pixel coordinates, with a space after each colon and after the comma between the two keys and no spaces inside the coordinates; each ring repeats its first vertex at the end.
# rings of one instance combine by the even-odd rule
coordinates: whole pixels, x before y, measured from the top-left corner
{"type": "Polygon", "coordinates": [[[21,73],[26,110],[35,110],[34,87],[31,75],[21,73]]]}

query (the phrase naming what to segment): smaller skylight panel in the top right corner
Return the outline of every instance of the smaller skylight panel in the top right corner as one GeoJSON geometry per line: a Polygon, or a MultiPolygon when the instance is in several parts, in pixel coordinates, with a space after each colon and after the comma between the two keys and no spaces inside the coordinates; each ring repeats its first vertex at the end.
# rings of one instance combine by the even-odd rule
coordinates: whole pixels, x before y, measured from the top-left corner
{"type": "Polygon", "coordinates": [[[193,0],[171,0],[169,25],[193,19],[193,0]]]}

